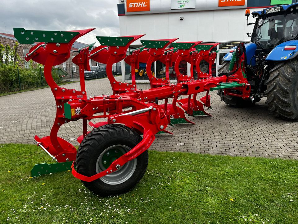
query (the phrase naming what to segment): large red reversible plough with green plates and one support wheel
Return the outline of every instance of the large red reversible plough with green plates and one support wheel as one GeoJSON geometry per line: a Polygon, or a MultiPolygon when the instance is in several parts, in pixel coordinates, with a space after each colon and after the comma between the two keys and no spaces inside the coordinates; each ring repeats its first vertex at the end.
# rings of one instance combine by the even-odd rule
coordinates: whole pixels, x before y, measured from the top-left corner
{"type": "Polygon", "coordinates": [[[58,86],[52,78],[52,66],[65,62],[70,57],[70,49],[75,40],[92,30],[14,29],[20,43],[40,41],[30,49],[25,59],[44,64],[44,76],[56,101],[56,118],[50,136],[35,136],[35,140],[58,163],[39,164],[32,170],[32,175],[69,169],[72,163],[72,174],[94,193],[120,194],[133,188],[144,175],[148,163],[147,149],[154,141],[155,134],[169,133],[166,128],[171,123],[194,124],[185,117],[185,113],[210,115],[204,110],[204,106],[210,107],[208,93],[211,88],[218,88],[219,83],[226,82],[227,77],[212,77],[206,73],[201,75],[198,70],[199,79],[194,80],[193,73],[183,76],[179,72],[178,64],[181,60],[190,62],[191,71],[203,59],[211,64],[214,53],[210,53],[210,49],[215,45],[204,45],[201,42],[174,43],[177,39],[142,40],[144,47],[133,50],[126,57],[129,45],[143,36],[134,35],[97,37],[101,46],[91,52],[94,44],[79,49],[79,54],[72,61],[79,66],[80,90],[58,86]],[[169,44],[173,47],[167,49],[169,44]],[[118,82],[112,75],[113,63],[124,58],[131,65],[132,83],[118,82]],[[90,71],[89,59],[106,63],[113,95],[87,95],[84,70],[90,71]],[[151,73],[151,64],[157,60],[166,65],[165,79],[156,78],[151,73]],[[140,90],[136,86],[135,68],[139,67],[139,62],[147,63],[151,86],[148,90],[140,90]],[[173,63],[177,74],[176,84],[169,81],[169,66],[173,63]],[[196,100],[197,94],[205,91],[207,94],[201,98],[201,102],[196,100]],[[180,96],[188,98],[179,100],[180,96]],[[169,98],[173,98],[172,104],[168,103],[169,98]],[[165,104],[158,105],[158,100],[165,100],[165,104]],[[106,121],[95,124],[90,121],[98,118],[106,121]],[[77,151],[72,144],[59,138],[57,133],[63,124],[78,119],[83,121],[83,135],[78,138],[80,146],[77,151]],[[93,127],[91,132],[87,131],[88,120],[93,127]]]}

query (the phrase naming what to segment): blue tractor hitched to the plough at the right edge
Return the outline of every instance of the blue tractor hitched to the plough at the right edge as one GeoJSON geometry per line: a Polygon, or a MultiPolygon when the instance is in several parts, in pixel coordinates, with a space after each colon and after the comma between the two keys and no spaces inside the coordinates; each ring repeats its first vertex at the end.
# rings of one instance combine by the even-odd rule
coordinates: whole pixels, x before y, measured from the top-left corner
{"type": "MultiPolygon", "coordinates": [[[[245,73],[251,93],[249,100],[226,94],[218,95],[227,105],[254,105],[267,97],[269,112],[283,119],[298,121],[298,3],[266,8],[252,12],[254,24],[251,43],[245,45],[245,73]]],[[[219,75],[231,75],[233,53],[231,49],[223,58],[219,75]]],[[[235,90],[237,91],[237,90],[235,90]]],[[[231,92],[231,91],[230,91],[231,92]]]]}

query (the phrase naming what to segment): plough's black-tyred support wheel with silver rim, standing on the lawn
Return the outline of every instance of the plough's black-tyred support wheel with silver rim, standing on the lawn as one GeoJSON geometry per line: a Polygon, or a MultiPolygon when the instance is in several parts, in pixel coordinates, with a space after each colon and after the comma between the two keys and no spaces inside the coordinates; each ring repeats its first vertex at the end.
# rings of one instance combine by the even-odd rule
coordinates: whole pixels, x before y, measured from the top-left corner
{"type": "MultiPolygon", "coordinates": [[[[130,151],[142,140],[134,130],[120,124],[107,124],[94,129],[81,142],[77,171],[85,176],[106,170],[116,159],[130,151]]],[[[93,193],[101,196],[128,192],[144,176],[148,165],[148,151],[127,162],[119,170],[92,182],[82,181],[93,193]]]]}

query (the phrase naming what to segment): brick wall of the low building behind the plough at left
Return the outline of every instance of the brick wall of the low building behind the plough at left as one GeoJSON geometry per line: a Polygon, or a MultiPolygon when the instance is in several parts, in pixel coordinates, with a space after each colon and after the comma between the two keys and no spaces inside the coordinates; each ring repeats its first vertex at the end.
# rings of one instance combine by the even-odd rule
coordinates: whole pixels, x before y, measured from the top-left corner
{"type": "MultiPolygon", "coordinates": [[[[16,42],[18,42],[18,41],[13,40],[11,38],[0,36],[0,44],[3,44],[4,46],[6,44],[8,44],[11,47],[11,49],[13,49],[16,42]]],[[[20,67],[23,67],[23,68],[25,67],[24,49],[31,49],[33,46],[34,46],[33,44],[20,44],[19,43],[18,55],[20,56],[20,61],[19,61],[19,66],[20,67]]],[[[72,75],[74,77],[79,77],[79,66],[73,64],[72,61],[71,61],[72,58],[75,57],[77,54],[78,54],[78,52],[71,51],[70,52],[70,58],[67,59],[67,61],[65,62],[65,64],[66,64],[66,73],[68,74],[66,79],[72,80],[72,75]]],[[[35,63],[35,62],[33,62],[33,63],[35,63]]],[[[93,61],[93,60],[92,60],[92,66],[96,66],[96,62],[93,61]]],[[[65,69],[65,68],[63,68],[63,64],[58,65],[58,68],[65,69]]]]}

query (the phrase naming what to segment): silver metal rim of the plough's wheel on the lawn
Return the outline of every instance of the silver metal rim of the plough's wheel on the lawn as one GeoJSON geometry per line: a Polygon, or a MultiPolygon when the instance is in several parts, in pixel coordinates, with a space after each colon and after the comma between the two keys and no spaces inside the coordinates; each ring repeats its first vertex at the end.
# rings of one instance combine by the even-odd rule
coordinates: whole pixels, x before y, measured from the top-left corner
{"type": "MultiPolygon", "coordinates": [[[[131,150],[131,148],[125,145],[113,145],[106,148],[97,158],[96,165],[95,165],[96,173],[100,173],[106,170],[106,168],[103,166],[103,163],[102,163],[102,157],[107,151],[110,151],[111,149],[119,150],[123,154],[131,150]]],[[[101,177],[100,180],[110,185],[122,184],[133,175],[134,171],[136,170],[136,167],[137,167],[137,159],[133,159],[125,163],[122,167],[120,167],[119,170],[116,170],[111,174],[107,174],[101,177]]]]}

